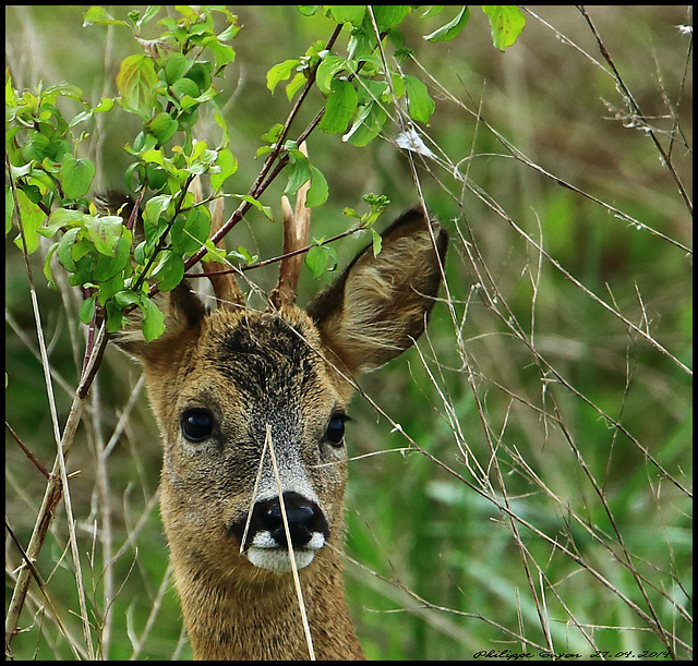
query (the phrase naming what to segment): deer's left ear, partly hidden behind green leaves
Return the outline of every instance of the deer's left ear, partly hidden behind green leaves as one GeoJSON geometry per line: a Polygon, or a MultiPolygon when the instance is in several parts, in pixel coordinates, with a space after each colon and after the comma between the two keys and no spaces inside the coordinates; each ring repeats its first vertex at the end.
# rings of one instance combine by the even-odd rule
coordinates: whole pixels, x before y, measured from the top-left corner
{"type": "MultiPolygon", "coordinates": [[[[174,354],[179,344],[191,344],[198,336],[206,308],[201,299],[190,289],[186,280],[172,291],[155,296],[156,304],[165,315],[165,332],[146,342],[141,331],[141,312],[134,311],[129,330],[115,336],[115,342],[128,354],[142,363],[156,363],[163,354],[174,354]]],[[[177,356],[173,356],[177,358],[177,356]]]]}

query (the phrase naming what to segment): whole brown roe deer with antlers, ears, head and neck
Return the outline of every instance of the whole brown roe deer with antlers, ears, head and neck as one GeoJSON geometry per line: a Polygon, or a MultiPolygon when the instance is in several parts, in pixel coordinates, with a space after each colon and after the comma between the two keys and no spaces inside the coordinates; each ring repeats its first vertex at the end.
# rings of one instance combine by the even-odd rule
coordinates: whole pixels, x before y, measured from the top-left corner
{"type": "MultiPolygon", "coordinates": [[[[299,204],[293,215],[286,203],[285,253],[306,242],[306,229],[293,238],[299,204]]],[[[267,312],[217,275],[214,312],[182,283],[160,295],[160,338],[120,340],[145,367],[164,439],[160,510],[194,658],[365,658],[341,565],[348,378],[422,334],[446,245],[414,208],[305,312],[293,303],[302,258],[291,257],[267,312]]]]}

